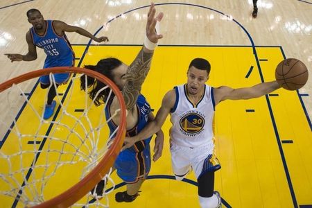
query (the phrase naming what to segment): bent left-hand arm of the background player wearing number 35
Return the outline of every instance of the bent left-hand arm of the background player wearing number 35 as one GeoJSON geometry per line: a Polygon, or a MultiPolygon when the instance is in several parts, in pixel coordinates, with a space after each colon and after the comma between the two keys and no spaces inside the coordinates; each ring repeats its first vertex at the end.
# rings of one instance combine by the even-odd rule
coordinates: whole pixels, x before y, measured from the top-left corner
{"type": "Polygon", "coordinates": [[[28,31],[26,33],[26,42],[28,44],[28,53],[26,55],[21,55],[19,53],[5,53],[4,55],[8,56],[11,62],[16,61],[32,61],[37,59],[37,49],[33,44],[33,39],[31,37],[31,33],[28,31]]]}

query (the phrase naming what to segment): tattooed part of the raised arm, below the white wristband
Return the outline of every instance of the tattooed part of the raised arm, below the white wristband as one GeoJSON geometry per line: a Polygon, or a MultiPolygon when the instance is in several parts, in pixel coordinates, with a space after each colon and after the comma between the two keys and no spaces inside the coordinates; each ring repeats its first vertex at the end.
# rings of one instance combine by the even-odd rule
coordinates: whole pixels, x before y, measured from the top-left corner
{"type": "Polygon", "coordinates": [[[153,53],[146,53],[142,48],[137,58],[130,64],[125,73],[127,81],[123,87],[123,98],[127,110],[131,110],[132,107],[135,106],[135,103],[137,103],[137,97],[141,92],[141,87],[150,70],[152,57],[153,53]]]}

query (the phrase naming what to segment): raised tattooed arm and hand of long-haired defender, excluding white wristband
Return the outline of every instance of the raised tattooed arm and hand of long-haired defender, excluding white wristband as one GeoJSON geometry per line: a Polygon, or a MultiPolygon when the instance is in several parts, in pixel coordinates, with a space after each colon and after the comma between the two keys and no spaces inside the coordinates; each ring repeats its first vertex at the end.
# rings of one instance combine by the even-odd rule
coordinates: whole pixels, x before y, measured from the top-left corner
{"type": "MultiPolygon", "coordinates": [[[[157,21],[161,21],[164,14],[162,12],[155,17],[156,9],[152,3],[148,11],[148,21],[146,23],[146,37],[150,42],[157,43],[162,35],[155,33],[155,26],[157,21]]],[[[137,102],[137,97],[141,92],[141,86],[150,70],[150,62],[152,61],[154,51],[150,51],[143,46],[137,58],[130,64],[125,73],[126,83],[123,87],[123,98],[127,110],[132,110],[137,102]]]]}

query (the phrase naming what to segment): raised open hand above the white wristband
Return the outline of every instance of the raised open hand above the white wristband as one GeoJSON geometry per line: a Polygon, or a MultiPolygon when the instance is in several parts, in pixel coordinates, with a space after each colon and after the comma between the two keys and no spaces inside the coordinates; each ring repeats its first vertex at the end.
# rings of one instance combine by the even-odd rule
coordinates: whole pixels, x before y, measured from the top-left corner
{"type": "MultiPolygon", "coordinates": [[[[156,8],[154,3],[150,4],[150,10],[148,11],[148,21],[146,23],[146,36],[148,40],[153,43],[157,43],[159,39],[162,38],[161,34],[157,34],[155,31],[155,26],[157,21],[161,21],[162,17],[164,17],[163,12],[159,12],[159,14],[155,17],[156,8]]],[[[159,31],[158,31],[159,33],[159,31]]]]}

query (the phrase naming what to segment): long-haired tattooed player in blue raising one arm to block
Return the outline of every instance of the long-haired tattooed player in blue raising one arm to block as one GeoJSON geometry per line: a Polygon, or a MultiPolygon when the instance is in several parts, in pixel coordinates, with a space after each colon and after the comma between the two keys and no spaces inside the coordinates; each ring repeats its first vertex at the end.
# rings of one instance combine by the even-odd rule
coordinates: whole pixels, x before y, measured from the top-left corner
{"type": "MultiPolygon", "coordinates": [[[[126,116],[126,129],[128,136],[135,136],[139,133],[149,121],[154,119],[154,116],[150,110],[150,105],[146,101],[146,98],[141,94],[141,85],[150,69],[150,63],[153,58],[153,52],[157,45],[157,42],[162,35],[155,32],[157,27],[157,21],[160,21],[163,17],[162,12],[155,17],[155,6],[152,3],[148,12],[148,21],[146,24],[146,38],[144,40],[144,46],[139,51],[137,58],[127,66],[121,60],[116,58],[105,58],[98,61],[94,65],[87,65],[85,68],[98,71],[103,75],[110,78],[117,87],[121,90],[123,98],[125,100],[125,106],[128,114],[126,116]]],[[[81,89],[85,89],[85,78],[81,79],[81,89]]],[[[111,118],[111,115],[119,109],[119,102],[116,97],[112,96],[108,98],[110,89],[100,91],[105,85],[92,78],[88,78],[87,87],[89,88],[89,96],[95,100],[95,105],[101,105],[105,103],[105,115],[106,118],[111,118]],[[99,96],[96,96],[99,94],[99,96]]],[[[108,125],[110,127],[111,134],[119,125],[119,114],[112,117],[108,125]]],[[[119,153],[114,163],[114,170],[117,175],[127,184],[127,190],[116,193],[115,199],[117,202],[132,202],[139,196],[138,191],[141,184],[144,182],[150,171],[150,137],[146,137],[142,141],[129,146],[127,149],[119,153]]],[[[164,135],[162,130],[157,131],[157,137],[155,139],[155,154],[153,160],[156,161],[162,155],[162,147],[164,142],[164,135]]],[[[92,195],[97,195],[95,198],[101,198],[103,196],[104,182],[101,181],[93,190],[92,195]],[[95,193],[96,194],[95,194],[95,193]]]]}

